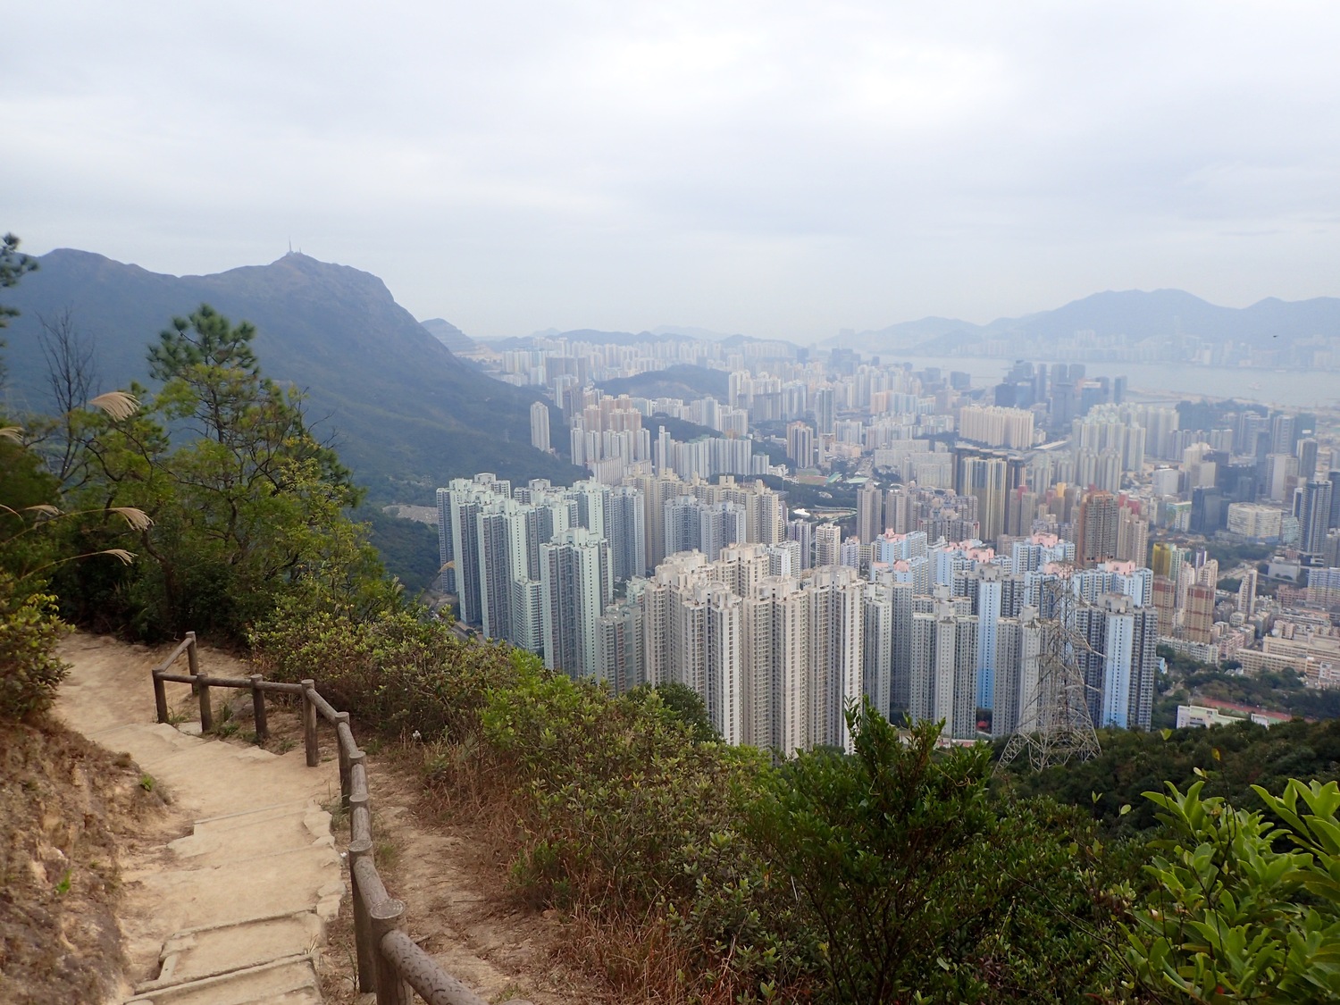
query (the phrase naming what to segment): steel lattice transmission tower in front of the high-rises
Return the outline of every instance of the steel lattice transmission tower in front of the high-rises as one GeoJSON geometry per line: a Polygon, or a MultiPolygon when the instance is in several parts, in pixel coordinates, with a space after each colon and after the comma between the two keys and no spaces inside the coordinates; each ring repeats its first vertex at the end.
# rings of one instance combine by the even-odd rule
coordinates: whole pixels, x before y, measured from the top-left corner
{"type": "Polygon", "coordinates": [[[1092,653],[1088,639],[1076,630],[1075,611],[1084,602],[1065,579],[1043,584],[1049,594],[1051,618],[1043,619],[1037,655],[1037,683],[1028,694],[1024,714],[997,770],[1004,770],[1025,750],[1033,770],[1071,758],[1088,761],[1099,754],[1097,732],[1089,714],[1089,691],[1076,653],[1092,653]]]}

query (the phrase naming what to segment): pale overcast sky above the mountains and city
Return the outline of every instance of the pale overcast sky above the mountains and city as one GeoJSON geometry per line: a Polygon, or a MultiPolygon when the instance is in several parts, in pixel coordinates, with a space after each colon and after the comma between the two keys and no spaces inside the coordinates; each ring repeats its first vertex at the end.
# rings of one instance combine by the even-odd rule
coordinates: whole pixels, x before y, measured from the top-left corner
{"type": "Polygon", "coordinates": [[[1340,295],[1335,3],[12,3],[0,230],[473,335],[1340,295]],[[934,7],[934,9],[930,9],[934,7]]]}

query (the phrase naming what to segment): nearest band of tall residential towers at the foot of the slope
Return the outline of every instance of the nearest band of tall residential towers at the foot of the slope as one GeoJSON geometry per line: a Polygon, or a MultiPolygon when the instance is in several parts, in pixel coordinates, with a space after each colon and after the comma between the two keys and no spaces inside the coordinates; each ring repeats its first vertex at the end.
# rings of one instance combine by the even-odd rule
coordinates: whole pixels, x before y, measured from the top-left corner
{"type": "MultiPolygon", "coordinates": [[[[1075,544],[1041,532],[1008,556],[925,529],[844,541],[838,524],[788,521],[761,482],[630,481],[512,489],[480,474],[441,489],[445,575],[462,620],[615,691],[687,685],[728,742],[846,746],[844,712],[864,699],[973,740],[1036,718],[1041,638],[1057,630],[1048,584],[1060,583],[1080,600],[1068,627],[1091,647],[1079,659],[1093,720],[1150,722],[1148,568],[1076,568],[1075,544]]],[[[892,493],[895,509],[942,525],[933,501],[945,500],[917,493],[892,493]]]]}

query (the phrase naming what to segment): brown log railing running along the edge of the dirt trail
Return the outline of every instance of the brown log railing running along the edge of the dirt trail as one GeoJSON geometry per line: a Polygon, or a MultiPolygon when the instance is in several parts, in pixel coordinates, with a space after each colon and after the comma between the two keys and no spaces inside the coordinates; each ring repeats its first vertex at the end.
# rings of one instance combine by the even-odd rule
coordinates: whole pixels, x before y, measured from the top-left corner
{"type": "MultiPolygon", "coordinates": [[[[377,1005],[410,1005],[418,993],[429,1005],[486,1005],[474,992],[457,981],[425,953],[405,931],[405,903],[386,892],[386,884],[373,860],[373,808],[367,789],[367,754],[354,742],[347,712],[336,712],[316,690],[316,682],[281,683],[261,674],[251,677],[209,677],[200,673],[196,632],[188,631],[182,643],[153,670],[154,705],[158,721],[168,722],[166,683],[189,683],[200,699],[200,729],[214,728],[210,705],[212,687],[251,690],[256,721],[256,741],[269,734],[265,720],[265,693],[292,694],[303,702],[303,746],[307,766],[320,764],[318,717],[335,726],[339,752],[340,805],[348,813],[348,874],[354,900],[354,942],[358,949],[358,989],[375,992],[377,1005]],[[174,674],[170,667],[182,653],[189,673],[174,674]]],[[[513,1000],[508,1005],[528,1005],[513,1000]]]]}

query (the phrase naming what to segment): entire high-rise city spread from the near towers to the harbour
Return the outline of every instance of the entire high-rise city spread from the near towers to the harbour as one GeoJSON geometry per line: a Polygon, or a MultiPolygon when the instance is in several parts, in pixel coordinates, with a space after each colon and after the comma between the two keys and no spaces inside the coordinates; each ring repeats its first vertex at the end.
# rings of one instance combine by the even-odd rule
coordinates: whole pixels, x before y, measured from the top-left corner
{"type": "Polygon", "coordinates": [[[536,346],[485,362],[544,387],[532,438],[549,449],[560,409],[590,478],[457,480],[441,547],[461,619],[551,667],[687,685],[728,741],[781,750],[846,745],[864,699],[962,741],[1028,732],[1059,651],[1100,726],[1150,725],[1160,643],[1249,669],[1302,654],[1340,683],[1335,626],[1297,610],[1340,591],[1340,450],[1315,415],[1138,401],[1071,362],[974,390],[785,343],[536,346]],[[649,394],[717,390],[599,387],[666,367],[649,394]],[[1278,553],[1221,570],[1215,537],[1278,553]]]}

